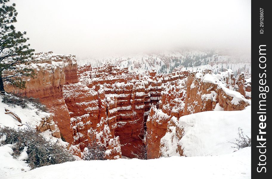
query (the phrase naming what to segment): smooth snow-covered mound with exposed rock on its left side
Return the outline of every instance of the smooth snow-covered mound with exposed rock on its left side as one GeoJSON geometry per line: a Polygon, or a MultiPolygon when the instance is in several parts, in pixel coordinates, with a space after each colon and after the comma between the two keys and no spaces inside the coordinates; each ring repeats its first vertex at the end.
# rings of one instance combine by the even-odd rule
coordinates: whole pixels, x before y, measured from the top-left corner
{"type": "Polygon", "coordinates": [[[241,111],[206,111],[172,117],[160,141],[160,156],[208,156],[233,152],[238,128],[251,136],[251,106],[241,111]]]}

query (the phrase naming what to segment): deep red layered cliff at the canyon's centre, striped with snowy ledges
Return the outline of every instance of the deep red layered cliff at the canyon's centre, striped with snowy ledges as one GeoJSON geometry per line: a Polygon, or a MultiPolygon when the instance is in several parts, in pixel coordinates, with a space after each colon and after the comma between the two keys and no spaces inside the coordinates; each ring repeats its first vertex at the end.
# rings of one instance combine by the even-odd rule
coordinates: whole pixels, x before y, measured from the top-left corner
{"type": "Polygon", "coordinates": [[[121,74],[119,72],[109,75],[112,74],[110,70],[115,71],[118,67],[108,64],[92,70],[87,70],[86,67],[84,69],[84,73],[79,75],[80,81],[90,88],[102,85],[107,101],[106,113],[111,134],[119,136],[122,155],[130,158],[135,157],[133,153],[138,152],[137,146],[144,145],[143,130],[149,109],[152,104],[158,106],[162,86],[168,81],[175,81],[187,75],[180,72],[156,75],[154,70],[139,75],[129,74],[126,69],[120,70],[121,74]],[[117,125],[114,125],[115,122],[117,125]]]}

